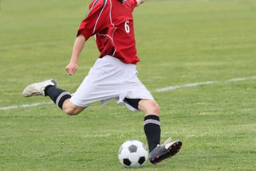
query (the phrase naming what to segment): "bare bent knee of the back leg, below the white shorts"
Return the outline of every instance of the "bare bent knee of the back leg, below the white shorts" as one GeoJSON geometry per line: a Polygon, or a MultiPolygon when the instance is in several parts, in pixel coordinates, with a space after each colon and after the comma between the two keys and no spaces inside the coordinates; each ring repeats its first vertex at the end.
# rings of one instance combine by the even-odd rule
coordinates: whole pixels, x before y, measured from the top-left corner
{"type": "Polygon", "coordinates": [[[81,111],[84,111],[86,107],[79,107],[70,102],[70,99],[66,99],[63,103],[62,110],[68,115],[78,115],[81,111]]]}

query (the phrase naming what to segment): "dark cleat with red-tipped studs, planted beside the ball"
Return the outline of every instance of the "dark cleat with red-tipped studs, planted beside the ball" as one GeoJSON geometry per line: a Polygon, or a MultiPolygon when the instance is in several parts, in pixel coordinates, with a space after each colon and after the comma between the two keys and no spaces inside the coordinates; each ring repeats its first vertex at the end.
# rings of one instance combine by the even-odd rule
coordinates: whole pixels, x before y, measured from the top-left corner
{"type": "Polygon", "coordinates": [[[167,157],[172,157],[179,152],[182,147],[181,141],[171,142],[171,138],[168,138],[163,145],[156,146],[152,152],[149,153],[149,160],[152,164],[160,163],[167,157]]]}

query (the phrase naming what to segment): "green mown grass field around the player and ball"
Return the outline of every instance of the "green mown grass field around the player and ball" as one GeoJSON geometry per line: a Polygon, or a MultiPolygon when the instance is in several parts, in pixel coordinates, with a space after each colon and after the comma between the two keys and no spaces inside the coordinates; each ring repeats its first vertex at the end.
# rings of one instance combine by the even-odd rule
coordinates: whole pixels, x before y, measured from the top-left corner
{"type": "MultiPolygon", "coordinates": [[[[147,143],[143,113],[115,102],[74,117],[54,104],[19,106],[50,102],[23,98],[27,84],[55,78],[73,92],[87,75],[99,55],[93,38],[75,76],[65,66],[89,2],[1,1],[0,170],[128,170],[119,146],[147,143]]],[[[163,141],[183,141],[175,157],[138,170],[255,170],[256,1],[148,0],[134,17],[137,69],[160,104],[163,141]],[[235,78],[249,79],[225,81],[235,78]],[[155,91],[205,81],[219,82],[155,91]]]]}

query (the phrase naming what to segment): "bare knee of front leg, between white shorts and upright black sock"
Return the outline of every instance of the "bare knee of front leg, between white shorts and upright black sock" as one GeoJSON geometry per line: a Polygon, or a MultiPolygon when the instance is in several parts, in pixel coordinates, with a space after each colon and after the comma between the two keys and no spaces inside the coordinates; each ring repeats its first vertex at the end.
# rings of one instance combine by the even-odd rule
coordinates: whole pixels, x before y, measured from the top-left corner
{"type": "Polygon", "coordinates": [[[141,99],[138,108],[145,115],[160,115],[160,107],[154,99],[141,99]]]}

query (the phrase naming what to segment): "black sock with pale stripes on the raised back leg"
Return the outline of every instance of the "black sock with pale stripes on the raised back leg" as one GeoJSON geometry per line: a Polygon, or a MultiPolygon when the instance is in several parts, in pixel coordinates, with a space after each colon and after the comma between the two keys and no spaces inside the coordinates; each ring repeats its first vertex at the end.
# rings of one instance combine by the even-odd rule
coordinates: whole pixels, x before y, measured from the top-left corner
{"type": "Polygon", "coordinates": [[[65,100],[71,98],[68,91],[61,90],[60,88],[54,86],[45,87],[45,95],[48,95],[61,109],[65,100]]]}

